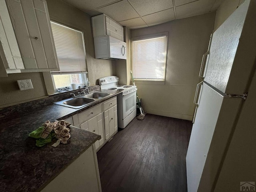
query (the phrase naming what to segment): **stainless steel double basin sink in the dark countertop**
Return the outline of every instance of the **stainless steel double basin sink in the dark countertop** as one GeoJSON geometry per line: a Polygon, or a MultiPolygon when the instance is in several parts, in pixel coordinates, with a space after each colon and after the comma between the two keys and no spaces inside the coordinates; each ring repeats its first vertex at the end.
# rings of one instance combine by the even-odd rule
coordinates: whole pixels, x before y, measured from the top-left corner
{"type": "Polygon", "coordinates": [[[96,102],[102,98],[105,98],[107,96],[111,96],[113,94],[111,93],[104,93],[104,92],[92,92],[86,95],[81,95],[76,98],[69,98],[65,99],[59,102],[55,102],[55,104],[62,105],[62,106],[67,106],[70,108],[75,108],[79,109],[82,107],[85,107],[92,102],[96,102]]]}

